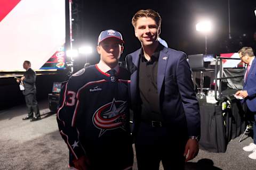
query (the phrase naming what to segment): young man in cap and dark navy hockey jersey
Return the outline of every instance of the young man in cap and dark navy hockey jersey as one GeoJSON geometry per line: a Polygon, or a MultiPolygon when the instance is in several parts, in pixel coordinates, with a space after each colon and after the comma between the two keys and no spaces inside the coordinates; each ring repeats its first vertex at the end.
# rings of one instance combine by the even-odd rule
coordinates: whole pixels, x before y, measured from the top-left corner
{"type": "Polygon", "coordinates": [[[118,66],[123,43],[121,33],[102,31],[100,62],[73,74],[62,91],[57,121],[77,169],[132,169],[130,75],[118,66]]]}

